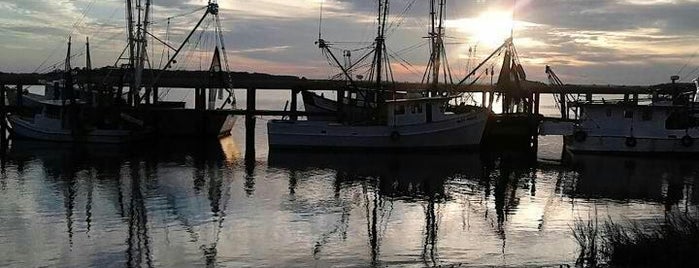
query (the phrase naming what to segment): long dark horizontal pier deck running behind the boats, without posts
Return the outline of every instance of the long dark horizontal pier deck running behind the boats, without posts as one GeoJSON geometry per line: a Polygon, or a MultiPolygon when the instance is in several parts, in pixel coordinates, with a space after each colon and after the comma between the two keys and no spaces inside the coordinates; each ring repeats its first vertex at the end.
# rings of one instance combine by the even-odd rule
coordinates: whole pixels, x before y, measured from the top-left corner
{"type": "MultiPolygon", "coordinates": [[[[197,88],[221,88],[223,85],[214,82],[216,79],[210,79],[210,73],[207,71],[166,71],[162,75],[157,75],[158,70],[144,71],[143,85],[146,87],[154,86],[159,88],[182,88],[182,89],[197,89],[197,88]],[[153,83],[154,80],[157,82],[153,83]]],[[[0,85],[43,85],[43,81],[50,80],[51,77],[60,76],[60,73],[48,74],[31,74],[31,73],[0,73],[0,85]]],[[[306,79],[303,77],[290,75],[269,75],[259,73],[231,73],[234,88],[257,90],[312,90],[312,91],[334,91],[345,85],[344,81],[336,80],[317,80],[306,79]]],[[[77,83],[85,83],[91,81],[101,85],[119,85],[123,84],[123,70],[117,68],[102,68],[93,70],[88,76],[84,71],[78,71],[77,83]]],[[[359,86],[371,86],[373,84],[362,84],[359,86]]],[[[532,93],[540,94],[555,94],[560,93],[560,87],[551,87],[542,82],[525,81],[523,88],[532,93]]],[[[658,85],[564,85],[563,90],[568,94],[644,94],[649,93],[652,89],[668,89],[674,86],[680,88],[692,88],[691,83],[658,84],[658,85]]],[[[394,84],[386,84],[387,89],[395,89],[402,91],[422,91],[425,90],[425,85],[421,83],[402,82],[394,84]]],[[[461,85],[447,86],[443,89],[452,90],[455,92],[499,92],[497,88],[491,85],[461,85]]]]}

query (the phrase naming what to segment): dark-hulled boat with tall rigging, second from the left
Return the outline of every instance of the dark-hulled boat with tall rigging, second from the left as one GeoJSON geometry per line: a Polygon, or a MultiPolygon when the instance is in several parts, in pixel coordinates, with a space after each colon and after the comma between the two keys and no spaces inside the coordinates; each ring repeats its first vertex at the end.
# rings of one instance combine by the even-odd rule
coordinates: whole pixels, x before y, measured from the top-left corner
{"type": "MultiPolygon", "coordinates": [[[[128,51],[128,63],[123,66],[126,72],[122,77],[125,77],[129,82],[129,92],[127,97],[128,113],[134,117],[143,118],[143,121],[148,126],[153,126],[156,129],[158,136],[167,137],[223,137],[231,135],[236,117],[227,112],[236,108],[235,94],[232,88],[232,78],[230,67],[228,64],[228,53],[226,52],[226,44],[223,39],[223,29],[221,27],[221,19],[219,17],[219,5],[216,0],[209,0],[206,6],[197,8],[190,14],[204,11],[204,14],[199,19],[194,28],[189,31],[187,37],[181,42],[178,47],[173,47],[168,42],[163,42],[161,38],[155,37],[151,33],[150,13],[152,12],[152,1],[134,1],[126,0],[127,7],[127,38],[128,45],[124,51],[128,51]],[[144,5],[145,3],[145,5],[144,5]],[[134,5],[135,4],[135,5],[134,5]],[[159,94],[158,83],[164,77],[165,73],[171,71],[178,63],[178,60],[186,62],[186,59],[191,55],[184,55],[183,50],[186,45],[197,47],[199,41],[190,41],[196,32],[200,32],[199,40],[202,39],[202,34],[206,31],[206,27],[202,25],[213,25],[214,31],[209,31],[213,36],[204,36],[210,38],[213,42],[213,58],[208,70],[207,87],[196,89],[195,97],[197,103],[195,108],[186,108],[185,101],[164,101],[160,100],[167,95],[169,90],[159,94]],[[162,43],[163,49],[167,51],[167,56],[164,58],[165,64],[160,67],[160,70],[148,70],[151,75],[145,72],[146,66],[153,66],[150,62],[153,55],[149,55],[148,47],[149,40],[157,40],[162,43]],[[215,48],[213,48],[215,46],[215,48]],[[171,54],[172,53],[172,54],[171,54]],[[149,79],[146,79],[149,78],[149,79]],[[149,80],[149,81],[147,81],[149,80]],[[208,101],[205,97],[208,89],[208,101]],[[142,94],[142,91],[143,92],[142,94]],[[152,101],[151,101],[152,99],[152,101]],[[223,104],[217,104],[216,100],[223,100],[223,104]]],[[[182,15],[177,15],[179,17],[182,15]]],[[[171,17],[171,18],[175,18],[171,17]]],[[[208,27],[208,26],[207,26],[208,27]]],[[[168,19],[168,32],[166,36],[169,38],[170,19],[168,19]]],[[[168,39],[166,38],[166,39],[168,39]]],[[[201,48],[188,48],[190,53],[199,54],[201,48]]],[[[207,49],[208,50],[208,49],[207,49]]],[[[165,52],[163,52],[165,54],[165,52]]],[[[126,59],[126,58],[125,58],[126,59]]],[[[180,67],[184,68],[184,67],[180,67]]],[[[119,73],[119,72],[117,72],[119,73]]],[[[176,74],[175,74],[176,75],[176,74]]]]}

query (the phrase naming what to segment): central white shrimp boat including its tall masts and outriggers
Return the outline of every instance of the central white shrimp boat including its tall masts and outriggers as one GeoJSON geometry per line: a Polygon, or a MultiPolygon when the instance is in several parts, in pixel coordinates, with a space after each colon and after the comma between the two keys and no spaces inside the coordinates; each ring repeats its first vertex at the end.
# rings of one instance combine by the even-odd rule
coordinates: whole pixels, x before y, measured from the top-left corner
{"type": "MultiPolygon", "coordinates": [[[[326,111],[335,112],[337,116],[334,120],[271,120],[267,124],[270,149],[419,150],[480,145],[488,116],[485,108],[464,106],[455,113],[451,112],[450,101],[456,95],[410,96],[386,89],[382,75],[390,71],[384,66],[388,2],[379,1],[378,7],[379,29],[372,51],[374,77],[369,78],[375,87],[355,86],[350,72],[339,64],[330,45],[319,39],[318,46],[332,56],[349,86],[338,90],[338,101],[319,104],[317,100],[323,98],[315,98],[310,107],[324,105],[326,111]]],[[[441,38],[433,38],[433,41],[435,39],[441,41],[441,38]]],[[[308,109],[309,106],[306,108],[313,110],[308,109]]]]}

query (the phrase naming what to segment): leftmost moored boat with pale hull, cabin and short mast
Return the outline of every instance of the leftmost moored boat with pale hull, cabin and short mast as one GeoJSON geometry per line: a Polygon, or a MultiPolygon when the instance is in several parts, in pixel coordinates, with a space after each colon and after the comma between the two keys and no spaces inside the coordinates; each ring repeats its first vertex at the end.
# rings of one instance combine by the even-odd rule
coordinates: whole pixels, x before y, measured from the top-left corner
{"type": "Polygon", "coordinates": [[[25,109],[8,116],[11,134],[35,140],[84,143],[126,143],[150,137],[153,129],[144,126],[143,121],[77,98],[82,92],[74,88],[70,47],[69,40],[63,78],[47,83],[44,95],[21,96],[25,109]]]}

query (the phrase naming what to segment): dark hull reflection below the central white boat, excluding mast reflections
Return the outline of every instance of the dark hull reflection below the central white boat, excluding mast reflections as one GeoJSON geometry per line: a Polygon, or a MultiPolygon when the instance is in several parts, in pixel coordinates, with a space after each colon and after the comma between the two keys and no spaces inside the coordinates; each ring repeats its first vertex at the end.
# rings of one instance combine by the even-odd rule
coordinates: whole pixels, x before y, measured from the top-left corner
{"type": "MultiPolygon", "coordinates": [[[[326,153],[272,151],[270,167],[291,173],[329,169],[336,173],[336,191],[344,184],[375,181],[382,197],[402,200],[446,199],[444,183],[455,176],[482,176],[477,153],[326,153]]],[[[291,176],[293,177],[293,176],[291,176]]]]}

